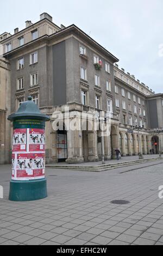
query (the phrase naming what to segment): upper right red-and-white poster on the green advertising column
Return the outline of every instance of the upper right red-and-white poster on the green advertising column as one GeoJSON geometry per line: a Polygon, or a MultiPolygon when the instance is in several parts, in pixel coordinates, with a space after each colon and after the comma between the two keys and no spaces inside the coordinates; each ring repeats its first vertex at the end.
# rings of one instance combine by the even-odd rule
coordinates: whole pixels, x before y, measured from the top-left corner
{"type": "Polygon", "coordinates": [[[29,151],[45,151],[45,130],[29,129],[29,151]]]}

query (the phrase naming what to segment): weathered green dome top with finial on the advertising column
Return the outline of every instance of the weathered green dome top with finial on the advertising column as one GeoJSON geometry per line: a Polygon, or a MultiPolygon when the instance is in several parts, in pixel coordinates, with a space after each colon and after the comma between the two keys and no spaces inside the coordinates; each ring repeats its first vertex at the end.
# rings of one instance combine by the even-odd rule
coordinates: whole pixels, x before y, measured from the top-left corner
{"type": "Polygon", "coordinates": [[[28,96],[28,100],[24,101],[20,108],[18,108],[18,111],[15,114],[11,114],[8,117],[8,120],[14,121],[16,118],[24,118],[24,117],[31,117],[40,119],[43,121],[48,121],[50,118],[48,115],[42,114],[40,112],[39,107],[35,104],[34,101],[32,101],[32,96],[28,96]]]}

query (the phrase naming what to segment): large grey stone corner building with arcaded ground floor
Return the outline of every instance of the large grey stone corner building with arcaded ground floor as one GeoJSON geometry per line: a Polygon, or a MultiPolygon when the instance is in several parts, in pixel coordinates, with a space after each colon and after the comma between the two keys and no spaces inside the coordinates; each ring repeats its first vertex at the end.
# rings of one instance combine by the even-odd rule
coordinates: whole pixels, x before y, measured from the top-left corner
{"type": "Polygon", "coordinates": [[[42,113],[51,117],[46,126],[47,162],[98,161],[103,154],[109,160],[116,148],[123,156],[149,154],[152,148],[156,154],[159,145],[163,151],[162,135],[155,132],[163,127],[163,95],[119,69],[118,59],[77,26],[58,27],[43,13],[40,21],[27,21],[22,31],[16,28],[14,35],[7,33],[1,45],[10,63],[11,113],[30,94],[42,113]],[[105,125],[110,124],[104,151],[102,133],[95,129],[101,111],[105,125]],[[53,126],[56,112],[64,120],[58,131],[53,126]],[[88,127],[90,113],[92,129],[67,129],[67,120],[88,127]],[[136,125],[142,127],[139,136],[133,129],[136,125]]]}

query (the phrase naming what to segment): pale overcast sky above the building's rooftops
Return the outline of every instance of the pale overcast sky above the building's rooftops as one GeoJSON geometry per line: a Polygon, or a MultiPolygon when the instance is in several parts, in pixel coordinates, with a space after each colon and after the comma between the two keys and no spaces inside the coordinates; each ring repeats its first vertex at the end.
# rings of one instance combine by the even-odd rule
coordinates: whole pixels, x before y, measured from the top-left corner
{"type": "Polygon", "coordinates": [[[0,8],[0,34],[23,29],[25,21],[39,21],[47,12],[58,26],[77,25],[120,59],[120,68],[163,93],[162,0],[8,0],[0,8]]]}

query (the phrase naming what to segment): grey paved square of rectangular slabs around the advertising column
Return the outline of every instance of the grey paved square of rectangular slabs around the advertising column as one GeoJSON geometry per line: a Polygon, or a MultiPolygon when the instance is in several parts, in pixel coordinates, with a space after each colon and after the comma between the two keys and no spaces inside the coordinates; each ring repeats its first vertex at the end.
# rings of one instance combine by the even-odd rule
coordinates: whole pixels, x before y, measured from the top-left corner
{"type": "Polygon", "coordinates": [[[48,198],[9,202],[0,166],[1,245],[163,245],[163,161],[104,173],[47,169],[48,198]],[[112,204],[123,199],[125,205],[112,204]]]}

